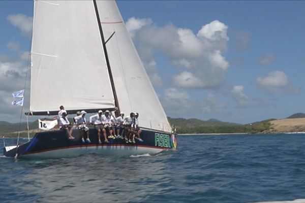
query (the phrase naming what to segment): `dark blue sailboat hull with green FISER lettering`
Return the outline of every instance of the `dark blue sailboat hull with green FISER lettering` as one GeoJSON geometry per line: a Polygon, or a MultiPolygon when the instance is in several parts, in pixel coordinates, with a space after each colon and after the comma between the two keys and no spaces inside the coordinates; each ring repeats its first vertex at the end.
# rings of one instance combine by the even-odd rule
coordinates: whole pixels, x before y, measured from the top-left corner
{"type": "Polygon", "coordinates": [[[18,157],[24,158],[61,158],[87,153],[125,156],[158,153],[177,147],[174,134],[149,129],[142,129],[143,142],[135,140],[135,144],[126,143],[123,139],[109,139],[110,143],[99,144],[95,128],[89,129],[91,143],[82,143],[77,129],[73,130],[72,134],[75,137],[74,140],[68,139],[65,130],[38,132],[31,141],[18,146],[18,148],[4,148],[4,155],[15,157],[17,153],[18,157]]]}

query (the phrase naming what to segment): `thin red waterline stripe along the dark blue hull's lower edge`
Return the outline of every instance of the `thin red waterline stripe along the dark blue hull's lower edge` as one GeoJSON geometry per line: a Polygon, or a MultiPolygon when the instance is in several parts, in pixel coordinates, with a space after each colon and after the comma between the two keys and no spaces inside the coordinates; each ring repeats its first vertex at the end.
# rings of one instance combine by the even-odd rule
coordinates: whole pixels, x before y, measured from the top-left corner
{"type": "Polygon", "coordinates": [[[47,152],[47,151],[54,151],[54,150],[60,150],[60,149],[70,149],[70,148],[86,148],[86,147],[98,147],[98,146],[107,146],[107,147],[121,147],[121,146],[128,146],[128,147],[143,147],[143,148],[154,148],[154,149],[172,149],[172,148],[166,148],[166,147],[155,147],[155,146],[145,146],[145,145],[124,145],[124,144],[89,144],[89,145],[73,145],[69,147],[58,147],[58,148],[52,148],[52,149],[46,149],[46,150],[39,150],[39,151],[34,151],[34,152],[27,152],[22,155],[27,155],[27,154],[35,154],[35,153],[40,153],[40,152],[47,152]]]}

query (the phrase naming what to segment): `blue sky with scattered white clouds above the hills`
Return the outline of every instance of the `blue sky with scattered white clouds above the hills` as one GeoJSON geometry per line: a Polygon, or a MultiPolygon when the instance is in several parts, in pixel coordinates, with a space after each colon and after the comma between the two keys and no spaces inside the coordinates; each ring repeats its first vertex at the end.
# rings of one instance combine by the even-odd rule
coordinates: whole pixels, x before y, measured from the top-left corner
{"type": "MultiPolygon", "coordinates": [[[[167,116],[246,124],[305,113],[305,1],[117,5],[167,116]]],[[[19,122],[12,92],[24,86],[28,110],[32,20],[33,1],[0,1],[0,121],[19,122]]]]}

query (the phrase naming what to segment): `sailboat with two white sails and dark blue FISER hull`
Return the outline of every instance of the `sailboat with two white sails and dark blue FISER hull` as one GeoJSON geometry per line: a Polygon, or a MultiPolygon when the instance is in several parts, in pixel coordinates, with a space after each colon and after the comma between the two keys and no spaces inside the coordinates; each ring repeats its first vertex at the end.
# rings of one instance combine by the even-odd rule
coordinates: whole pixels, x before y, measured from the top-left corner
{"type": "Polygon", "coordinates": [[[4,155],[60,158],[87,153],[152,154],[177,147],[160,100],[133,44],[115,1],[34,1],[31,97],[28,115],[69,115],[99,110],[138,112],[143,142],[110,139],[82,143],[77,129],[40,131],[27,143],[4,147],[4,155]]]}

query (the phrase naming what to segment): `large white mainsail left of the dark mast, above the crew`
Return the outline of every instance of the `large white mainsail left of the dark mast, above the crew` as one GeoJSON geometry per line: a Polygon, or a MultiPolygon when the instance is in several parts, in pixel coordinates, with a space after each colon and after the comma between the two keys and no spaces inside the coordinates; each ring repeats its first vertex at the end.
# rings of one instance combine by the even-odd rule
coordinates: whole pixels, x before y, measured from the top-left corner
{"type": "Polygon", "coordinates": [[[30,112],[111,109],[93,1],[35,1],[30,112]]]}

